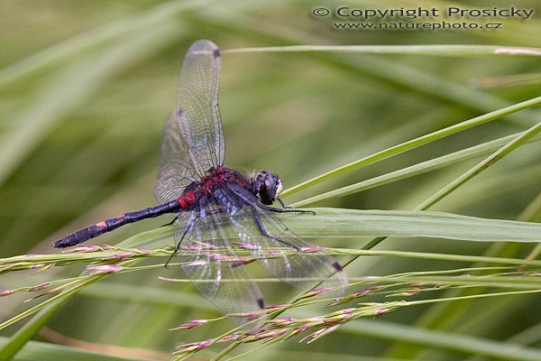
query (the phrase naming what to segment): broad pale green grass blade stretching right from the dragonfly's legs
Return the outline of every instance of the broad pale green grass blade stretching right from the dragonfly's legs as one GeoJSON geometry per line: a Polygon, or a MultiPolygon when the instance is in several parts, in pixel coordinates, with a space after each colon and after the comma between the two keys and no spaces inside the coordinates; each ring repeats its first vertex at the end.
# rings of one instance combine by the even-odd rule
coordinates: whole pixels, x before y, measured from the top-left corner
{"type": "Polygon", "coordinates": [[[489,242],[537,242],[541,225],[445,212],[312,208],[316,216],[282,218],[305,237],[427,236],[489,242]]]}

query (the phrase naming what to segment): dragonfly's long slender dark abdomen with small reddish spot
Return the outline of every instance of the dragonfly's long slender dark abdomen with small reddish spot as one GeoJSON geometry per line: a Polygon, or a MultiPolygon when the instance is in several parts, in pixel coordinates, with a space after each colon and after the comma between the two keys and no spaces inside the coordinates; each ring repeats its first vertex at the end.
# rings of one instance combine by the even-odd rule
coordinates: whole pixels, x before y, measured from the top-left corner
{"type": "Polygon", "coordinates": [[[160,204],[160,206],[123,213],[115,218],[108,218],[104,221],[96,223],[95,225],[90,225],[86,228],[79,229],[77,232],[53,242],[52,246],[55,248],[64,248],[72,245],[78,245],[79,243],[85,242],[90,238],[103,235],[104,233],[113,231],[116,228],[122,227],[129,223],[137,222],[145,218],[158,217],[166,213],[175,213],[179,211],[180,208],[181,205],[179,199],[174,199],[170,202],[160,204]]]}

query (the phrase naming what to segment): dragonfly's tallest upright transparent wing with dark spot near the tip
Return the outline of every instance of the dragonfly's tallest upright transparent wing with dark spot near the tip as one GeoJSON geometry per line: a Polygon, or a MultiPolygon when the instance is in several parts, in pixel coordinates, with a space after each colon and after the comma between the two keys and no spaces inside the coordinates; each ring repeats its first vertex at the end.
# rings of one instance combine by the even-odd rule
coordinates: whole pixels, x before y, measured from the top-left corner
{"type": "Polygon", "coordinates": [[[224,164],[225,144],[218,109],[220,51],[214,42],[200,40],[188,49],[180,71],[177,116],[188,154],[203,175],[224,164]]]}

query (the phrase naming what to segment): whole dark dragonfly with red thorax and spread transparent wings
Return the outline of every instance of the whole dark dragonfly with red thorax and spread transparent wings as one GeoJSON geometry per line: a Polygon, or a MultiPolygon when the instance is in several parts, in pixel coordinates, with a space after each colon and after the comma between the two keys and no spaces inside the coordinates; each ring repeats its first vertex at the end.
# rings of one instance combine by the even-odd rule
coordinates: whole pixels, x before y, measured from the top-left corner
{"type": "MultiPolygon", "coordinates": [[[[189,47],[180,71],[177,107],[167,118],[161,139],[154,186],[160,205],[105,219],[52,245],[78,245],[145,218],[174,214],[173,255],[182,257],[181,268],[190,281],[226,315],[265,308],[261,290],[247,269],[253,260],[303,290],[317,284],[344,287],[347,276],[335,258],[303,252],[315,247],[277,218],[281,213],[307,212],[285,207],[280,178],[271,171],[249,177],[224,165],[220,64],[214,42],[200,40],[189,47]],[[281,208],[271,207],[276,200],[281,208]]],[[[230,318],[239,325],[247,321],[230,318]]]]}

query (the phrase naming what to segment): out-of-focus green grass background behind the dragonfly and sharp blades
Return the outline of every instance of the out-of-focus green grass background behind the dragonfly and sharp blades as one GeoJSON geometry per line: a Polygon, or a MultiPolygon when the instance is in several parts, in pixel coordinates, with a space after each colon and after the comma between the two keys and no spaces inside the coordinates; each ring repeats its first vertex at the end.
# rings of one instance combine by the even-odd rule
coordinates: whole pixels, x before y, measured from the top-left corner
{"type": "MultiPolygon", "coordinates": [[[[513,5],[535,10],[534,16],[526,21],[496,19],[503,28],[494,31],[335,30],[333,23],[337,21],[332,16],[310,14],[316,7],[335,9],[338,5],[342,3],[142,0],[0,3],[0,256],[55,252],[50,249],[50,241],[59,236],[117,213],[155,204],[152,186],[159,162],[161,127],[175,106],[184,54],[197,39],[212,40],[222,50],[292,44],[539,46],[541,6],[536,1],[517,0],[513,4],[493,1],[490,5],[484,1],[423,2],[426,8],[513,5]]],[[[399,1],[349,1],[346,5],[379,9],[417,6],[399,1]]],[[[410,138],[536,97],[541,89],[536,58],[333,52],[225,54],[221,79],[227,164],[243,170],[276,171],[286,187],[410,138]],[[479,88],[485,84],[483,79],[517,74],[526,74],[531,81],[479,88]]],[[[292,203],[524,130],[538,121],[538,114],[530,111],[509,116],[349,172],[284,200],[292,203]]],[[[436,209],[517,219],[539,192],[540,155],[536,143],[521,148],[436,209]]],[[[478,161],[316,206],[415,208],[475,162],[478,161]]],[[[115,244],[166,221],[140,222],[94,243],[115,244]]],[[[365,242],[334,239],[321,240],[319,244],[354,248],[365,242]]],[[[382,247],[481,254],[487,245],[441,239],[390,239],[382,247]]],[[[526,251],[519,249],[515,255],[524,255],[526,251]]],[[[353,264],[348,273],[362,276],[443,266],[429,261],[390,263],[383,258],[371,258],[353,264]]],[[[69,271],[78,272],[80,268],[69,271]]],[[[138,299],[139,287],[130,286],[144,283],[149,292],[164,288],[176,292],[176,286],[163,285],[156,278],[173,273],[122,275],[108,280],[109,285],[103,282],[101,286],[93,286],[94,291],[71,301],[50,327],[91,342],[163,352],[169,352],[185,337],[206,338],[205,330],[179,336],[166,329],[188,319],[215,315],[211,306],[196,305],[206,310],[194,310],[189,305],[181,308],[167,302],[148,304],[143,297],[138,299]],[[121,292],[121,286],[132,288],[121,292]],[[119,295],[117,299],[116,295],[119,295]],[[126,303],[128,296],[135,300],[126,303]]],[[[28,283],[23,278],[27,275],[3,276],[0,289],[28,283]]],[[[38,283],[46,277],[39,275],[34,279],[38,283]]],[[[180,288],[182,292],[193,292],[189,286],[180,288]]],[[[193,296],[197,302],[197,294],[193,296]]],[[[23,310],[23,299],[15,295],[2,300],[0,317],[6,319],[23,310]]],[[[509,338],[539,322],[536,311],[539,301],[535,297],[522,298],[498,314],[499,317],[491,318],[491,323],[485,319],[484,323],[465,325],[466,313],[462,320],[454,319],[448,327],[485,338],[509,338]],[[457,325],[462,325],[462,329],[457,325]]],[[[489,304],[477,301],[470,305],[469,311],[487,310],[489,304]]],[[[423,308],[400,311],[386,320],[413,323],[425,311],[423,308]]],[[[225,329],[227,326],[224,325],[225,329]]],[[[14,329],[5,329],[1,334],[10,335],[14,329]]],[[[260,356],[272,359],[280,354],[271,352],[287,349],[382,356],[389,351],[390,343],[343,332],[309,346],[287,343],[272,347],[260,356]]],[[[443,353],[438,357],[462,359],[443,353]]]]}

